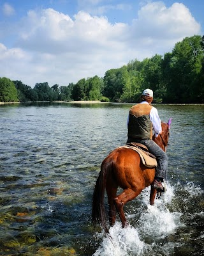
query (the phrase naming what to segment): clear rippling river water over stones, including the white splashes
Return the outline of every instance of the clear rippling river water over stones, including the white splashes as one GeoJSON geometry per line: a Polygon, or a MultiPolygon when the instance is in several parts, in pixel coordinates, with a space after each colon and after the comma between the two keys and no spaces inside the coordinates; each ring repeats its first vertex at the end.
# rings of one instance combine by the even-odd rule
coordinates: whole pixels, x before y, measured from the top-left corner
{"type": "Polygon", "coordinates": [[[101,162],[127,139],[129,104],[0,106],[1,255],[204,255],[204,106],[155,105],[171,124],[167,191],[149,188],[105,236],[91,225],[101,162]]]}

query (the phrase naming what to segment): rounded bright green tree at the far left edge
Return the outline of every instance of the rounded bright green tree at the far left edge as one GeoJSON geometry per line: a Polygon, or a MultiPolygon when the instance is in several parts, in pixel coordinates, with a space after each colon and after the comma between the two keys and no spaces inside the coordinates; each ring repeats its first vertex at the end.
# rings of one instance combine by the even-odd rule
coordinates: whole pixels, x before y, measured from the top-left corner
{"type": "Polygon", "coordinates": [[[0,77],[0,101],[13,102],[18,101],[18,92],[15,84],[6,77],[0,77]]]}

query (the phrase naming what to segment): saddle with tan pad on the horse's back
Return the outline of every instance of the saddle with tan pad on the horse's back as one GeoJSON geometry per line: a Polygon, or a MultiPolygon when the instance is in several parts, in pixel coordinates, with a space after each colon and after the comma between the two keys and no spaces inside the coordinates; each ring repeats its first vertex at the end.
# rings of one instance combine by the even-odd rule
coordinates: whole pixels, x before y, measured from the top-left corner
{"type": "Polygon", "coordinates": [[[152,155],[148,151],[148,148],[141,143],[131,142],[119,148],[129,148],[135,150],[140,155],[142,163],[149,168],[155,168],[157,166],[156,157],[152,155]]]}

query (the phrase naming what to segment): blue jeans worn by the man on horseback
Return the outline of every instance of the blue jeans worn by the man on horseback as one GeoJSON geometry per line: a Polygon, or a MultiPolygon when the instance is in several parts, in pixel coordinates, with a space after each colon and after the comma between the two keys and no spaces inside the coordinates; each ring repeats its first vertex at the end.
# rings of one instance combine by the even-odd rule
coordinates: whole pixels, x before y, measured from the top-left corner
{"type": "Polygon", "coordinates": [[[145,145],[149,152],[156,156],[157,168],[155,177],[166,179],[168,170],[168,157],[166,153],[159,147],[153,140],[138,140],[134,138],[128,138],[127,143],[138,142],[145,145]]]}

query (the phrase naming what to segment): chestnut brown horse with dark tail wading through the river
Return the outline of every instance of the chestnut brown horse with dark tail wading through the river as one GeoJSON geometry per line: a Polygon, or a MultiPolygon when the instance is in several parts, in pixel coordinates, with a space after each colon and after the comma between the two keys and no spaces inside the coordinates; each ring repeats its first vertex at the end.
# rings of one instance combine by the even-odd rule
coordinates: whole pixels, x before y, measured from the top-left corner
{"type": "MultiPolygon", "coordinates": [[[[169,138],[171,119],[168,123],[161,123],[162,134],[153,140],[166,151],[169,138]]],[[[124,205],[140,195],[142,190],[152,185],[155,176],[155,168],[147,168],[142,164],[140,156],[135,150],[129,148],[116,148],[113,150],[101,164],[92,200],[92,223],[101,223],[105,232],[108,232],[106,225],[106,212],[104,205],[105,189],[108,195],[109,205],[109,223],[113,226],[116,218],[116,211],[119,213],[122,227],[126,227],[127,221],[124,215],[124,205]],[[120,195],[117,195],[117,188],[123,189],[120,195]],[[115,211],[116,210],[116,211],[115,211]]],[[[154,205],[156,189],[151,186],[150,204],[154,205]]]]}

